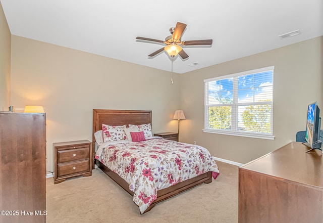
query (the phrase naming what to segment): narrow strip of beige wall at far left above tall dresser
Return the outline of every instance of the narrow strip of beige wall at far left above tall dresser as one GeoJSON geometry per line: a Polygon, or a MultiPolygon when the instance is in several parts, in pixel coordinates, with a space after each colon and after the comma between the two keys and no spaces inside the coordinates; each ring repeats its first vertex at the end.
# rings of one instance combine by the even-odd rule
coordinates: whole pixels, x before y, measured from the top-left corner
{"type": "Polygon", "coordinates": [[[0,110],[8,111],[10,104],[11,33],[0,4],[0,110]]]}

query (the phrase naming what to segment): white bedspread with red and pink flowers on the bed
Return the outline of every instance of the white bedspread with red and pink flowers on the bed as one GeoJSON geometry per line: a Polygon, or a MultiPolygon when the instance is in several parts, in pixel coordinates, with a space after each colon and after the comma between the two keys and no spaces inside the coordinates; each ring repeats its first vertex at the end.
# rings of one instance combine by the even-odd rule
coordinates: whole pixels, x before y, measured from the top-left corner
{"type": "Polygon", "coordinates": [[[96,154],[105,166],[118,173],[134,192],[133,201],[143,213],[157,191],[212,171],[219,175],[207,149],[163,138],[142,142],[115,141],[102,144],[96,154]]]}

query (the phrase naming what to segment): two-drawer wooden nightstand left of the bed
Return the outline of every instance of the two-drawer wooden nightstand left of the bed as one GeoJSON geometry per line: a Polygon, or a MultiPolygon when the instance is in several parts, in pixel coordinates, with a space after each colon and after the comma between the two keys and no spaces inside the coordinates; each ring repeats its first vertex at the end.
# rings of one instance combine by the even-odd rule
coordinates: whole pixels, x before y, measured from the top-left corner
{"type": "Polygon", "coordinates": [[[55,153],[54,184],[75,176],[92,175],[92,143],[88,140],[52,144],[55,153]]]}

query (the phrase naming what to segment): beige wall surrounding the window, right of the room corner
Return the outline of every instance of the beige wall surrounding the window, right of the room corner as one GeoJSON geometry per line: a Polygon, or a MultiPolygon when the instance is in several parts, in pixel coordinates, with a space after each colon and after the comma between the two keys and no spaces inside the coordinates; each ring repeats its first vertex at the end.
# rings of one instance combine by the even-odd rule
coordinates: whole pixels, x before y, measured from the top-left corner
{"type": "Polygon", "coordinates": [[[181,75],[181,109],[187,118],[181,121],[181,140],[196,141],[213,156],[240,163],[295,141],[296,132],[305,130],[307,105],[317,101],[323,111],[322,46],[323,36],[181,75]],[[202,131],[204,79],[273,65],[275,140],[202,131]]]}

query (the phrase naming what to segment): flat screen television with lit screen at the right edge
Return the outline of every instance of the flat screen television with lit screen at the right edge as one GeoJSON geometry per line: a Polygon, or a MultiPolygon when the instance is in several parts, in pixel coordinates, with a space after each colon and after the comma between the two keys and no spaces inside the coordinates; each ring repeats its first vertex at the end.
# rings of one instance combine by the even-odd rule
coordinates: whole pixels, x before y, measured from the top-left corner
{"type": "Polygon", "coordinates": [[[321,150],[322,143],[320,141],[320,126],[321,119],[319,117],[319,108],[317,106],[317,102],[314,102],[308,105],[305,132],[306,145],[310,147],[310,150],[321,150]]]}

